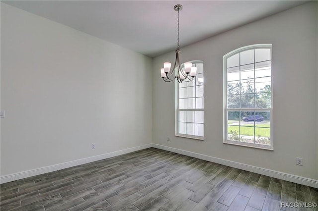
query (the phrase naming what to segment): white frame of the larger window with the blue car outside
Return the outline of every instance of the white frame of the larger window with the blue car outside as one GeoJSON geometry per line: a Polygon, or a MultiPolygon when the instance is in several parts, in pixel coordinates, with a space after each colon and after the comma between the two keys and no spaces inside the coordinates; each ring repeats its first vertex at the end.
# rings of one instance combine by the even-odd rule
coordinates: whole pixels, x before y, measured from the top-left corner
{"type": "MultiPolygon", "coordinates": [[[[255,57],[255,54],[254,54],[255,57]]],[[[255,59],[254,59],[255,65],[255,59]]],[[[239,65],[240,66],[240,65],[239,65]]],[[[255,75],[254,75],[255,77],[255,75]]],[[[241,94],[240,94],[241,95],[241,94]]],[[[273,62],[272,62],[272,44],[256,44],[256,45],[249,45],[244,46],[239,49],[236,49],[230,53],[227,53],[223,56],[223,143],[225,144],[232,144],[232,145],[239,145],[245,147],[252,147],[258,149],[265,149],[265,150],[273,150],[273,62]],[[237,53],[252,50],[252,49],[270,49],[271,57],[271,107],[270,108],[228,108],[227,107],[227,59],[237,53]],[[256,143],[247,143],[247,142],[240,142],[240,141],[233,141],[228,140],[228,111],[270,111],[270,145],[262,145],[256,143]]],[[[256,115],[254,113],[254,115],[256,115]]],[[[241,116],[240,120],[241,120],[241,116]]],[[[255,120],[254,120],[255,121],[255,120]]],[[[241,121],[239,121],[241,122],[241,121]]],[[[240,126],[240,123],[239,123],[240,126]]],[[[255,124],[254,124],[254,131],[255,131],[255,124]]],[[[255,134],[254,134],[255,137],[255,134]]]]}

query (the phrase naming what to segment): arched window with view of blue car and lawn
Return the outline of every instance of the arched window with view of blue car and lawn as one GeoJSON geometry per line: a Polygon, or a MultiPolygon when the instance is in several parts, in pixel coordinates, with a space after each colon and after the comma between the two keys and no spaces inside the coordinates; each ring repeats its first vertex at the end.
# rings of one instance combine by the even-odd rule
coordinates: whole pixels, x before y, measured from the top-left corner
{"type": "Polygon", "coordinates": [[[271,44],[223,56],[224,142],[273,149],[271,44]]]}

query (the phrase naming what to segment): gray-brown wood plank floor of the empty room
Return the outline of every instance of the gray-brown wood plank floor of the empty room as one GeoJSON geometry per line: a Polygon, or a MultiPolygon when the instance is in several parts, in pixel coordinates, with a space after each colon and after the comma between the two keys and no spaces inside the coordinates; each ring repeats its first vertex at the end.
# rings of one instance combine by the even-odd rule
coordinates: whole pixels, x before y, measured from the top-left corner
{"type": "Polygon", "coordinates": [[[318,211],[281,207],[318,189],[155,148],[0,188],[1,211],[318,211]]]}

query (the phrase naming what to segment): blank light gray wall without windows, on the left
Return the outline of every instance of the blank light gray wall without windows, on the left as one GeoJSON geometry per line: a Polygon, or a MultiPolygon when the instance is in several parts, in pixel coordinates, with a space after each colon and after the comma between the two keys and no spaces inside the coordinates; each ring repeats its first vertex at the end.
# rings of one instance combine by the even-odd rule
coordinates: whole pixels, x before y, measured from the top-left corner
{"type": "Polygon", "coordinates": [[[150,57],[1,2],[1,175],[150,144],[151,69],[150,57]]]}

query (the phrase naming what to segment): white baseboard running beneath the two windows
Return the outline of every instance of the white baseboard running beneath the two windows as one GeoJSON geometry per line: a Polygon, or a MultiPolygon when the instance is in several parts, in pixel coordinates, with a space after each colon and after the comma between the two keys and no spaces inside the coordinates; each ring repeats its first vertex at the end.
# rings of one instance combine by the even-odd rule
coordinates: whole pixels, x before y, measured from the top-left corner
{"type": "Polygon", "coordinates": [[[235,162],[232,160],[226,160],[226,159],[206,156],[206,155],[193,153],[193,152],[189,152],[189,151],[185,151],[185,150],[180,150],[180,149],[176,149],[176,148],[172,148],[172,147],[167,147],[167,146],[163,146],[163,145],[159,145],[159,144],[153,144],[153,147],[161,149],[161,150],[170,151],[173,153],[178,153],[178,154],[185,155],[185,156],[190,156],[193,158],[199,158],[199,159],[207,160],[210,162],[216,162],[216,163],[219,163],[222,165],[227,165],[227,166],[231,166],[234,168],[239,168],[242,170],[262,174],[265,176],[270,176],[270,177],[283,179],[286,181],[295,182],[298,184],[308,185],[308,186],[311,186],[314,188],[318,188],[318,180],[310,179],[307,177],[297,176],[297,175],[288,174],[288,173],[275,171],[275,170],[270,170],[270,169],[266,169],[266,168],[261,168],[261,167],[257,167],[257,166],[253,166],[253,165],[247,165],[247,164],[235,162]]]}

